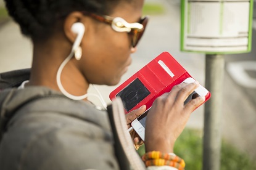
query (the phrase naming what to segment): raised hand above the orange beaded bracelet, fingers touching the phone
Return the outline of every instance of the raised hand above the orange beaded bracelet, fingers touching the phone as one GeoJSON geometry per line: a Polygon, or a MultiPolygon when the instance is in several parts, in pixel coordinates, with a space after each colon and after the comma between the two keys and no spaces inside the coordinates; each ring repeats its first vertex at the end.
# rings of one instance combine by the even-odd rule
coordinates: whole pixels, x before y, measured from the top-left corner
{"type": "Polygon", "coordinates": [[[155,99],[152,108],[147,113],[145,147],[146,152],[157,150],[163,153],[173,152],[176,139],[180,136],[191,115],[205,97],[192,99],[186,105],[188,98],[199,83],[182,83],[155,99]]]}

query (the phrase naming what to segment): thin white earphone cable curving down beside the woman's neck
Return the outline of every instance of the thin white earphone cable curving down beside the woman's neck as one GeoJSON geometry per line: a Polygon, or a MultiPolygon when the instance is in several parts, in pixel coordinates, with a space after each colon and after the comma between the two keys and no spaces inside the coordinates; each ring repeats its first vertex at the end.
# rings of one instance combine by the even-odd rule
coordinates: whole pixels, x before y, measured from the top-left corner
{"type": "Polygon", "coordinates": [[[68,55],[68,57],[61,63],[61,65],[60,65],[60,67],[59,67],[59,69],[58,69],[58,71],[57,71],[57,78],[56,78],[56,80],[57,80],[57,85],[58,85],[60,91],[62,92],[62,94],[64,94],[65,96],[67,96],[68,98],[73,99],[73,100],[83,100],[83,99],[86,99],[89,95],[94,96],[94,97],[97,97],[97,98],[101,101],[102,106],[103,106],[105,109],[107,109],[107,103],[105,103],[105,101],[104,101],[104,99],[103,99],[101,93],[96,89],[95,86],[93,86],[93,87],[94,87],[94,89],[96,89],[96,91],[97,91],[97,93],[98,93],[99,95],[97,95],[97,94],[84,94],[84,95],[79,95],[79,96],[72,95],[72,94],[68,93],[68,92],[64,89],[64,87],[62,86],[62,83],[61,83],[61,80],[60,80],[60,75],[61,75],[62,70],[63,70],[63,68],[65,67],[65,65],[68,63],[68,61],[69,61],[70,59],[72,59],[73,55],[74,55],[74,52],[73,52],[73,50],[72,50],[72,51],[70,52],[70,54],[68,55]]]}

